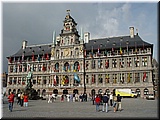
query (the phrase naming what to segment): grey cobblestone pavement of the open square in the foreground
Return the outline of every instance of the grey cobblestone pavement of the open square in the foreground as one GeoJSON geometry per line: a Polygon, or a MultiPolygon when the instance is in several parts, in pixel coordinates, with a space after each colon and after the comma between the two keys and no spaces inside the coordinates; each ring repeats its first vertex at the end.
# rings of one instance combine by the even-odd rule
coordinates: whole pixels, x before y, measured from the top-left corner
{"type": "MultiPolygon", "coordinates": [[[[60,102],[57,99],[54,103],[47,103],[47,100],[29,100],[28,107],[20,107],[14,102],[13,111],[8,110],[7,100],[2,106],[2,118],[159,118],[158,99],[146,100],[142,98],[123,98],[122,111],[113,112],[109,106],[108,113],[96,112],[92,101],[87,102],[60,102]]],[[[102,108],[102,106],[100,106],[102,108]]]]}

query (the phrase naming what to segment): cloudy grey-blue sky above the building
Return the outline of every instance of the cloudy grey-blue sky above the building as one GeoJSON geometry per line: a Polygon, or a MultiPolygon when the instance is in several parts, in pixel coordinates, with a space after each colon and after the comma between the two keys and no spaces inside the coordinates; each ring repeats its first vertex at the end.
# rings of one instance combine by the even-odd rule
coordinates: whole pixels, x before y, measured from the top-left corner
{"type": "Polygon", "coordinates": [[[60,34],[66,10],[77,22],[77,29],[90,32],[91,39],[129,35],[129,27],[138,30],[142,40],[153,44],[158,61],[158,1],[48,1],[1,3],[2,72],[8,73],[7,58],[15,54],[23,40],[28,45],[52,43],[52,33],[60,34]]]}

